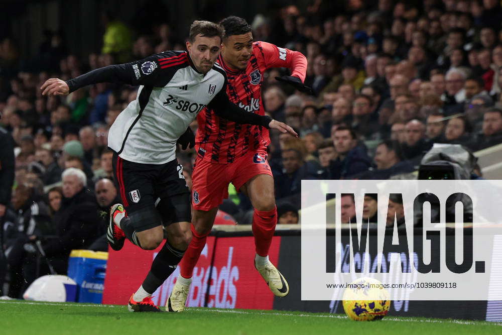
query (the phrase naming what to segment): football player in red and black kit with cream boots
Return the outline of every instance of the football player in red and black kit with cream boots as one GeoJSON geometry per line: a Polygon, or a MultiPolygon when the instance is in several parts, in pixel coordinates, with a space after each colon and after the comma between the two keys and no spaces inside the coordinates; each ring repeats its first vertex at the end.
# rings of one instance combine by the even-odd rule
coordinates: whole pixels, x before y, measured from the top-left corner
{"type": "MultiPolygon", "coordinates": [[[[310,91],[303,84],[307,70],[303,54],[266,42],[253,42],[251,27],[244,19],[232,16],[220,25],[225,35],[217,62],[227,74],[227,94],[233,103],[249,113],[265,115],[261,85],[264,72],[273,67],[291,70],[291,76],[278,77],[278,80],[301,91],[310,91]]],[[[219,118],[207,108],[199,113],[197,121],[197,159],[192,174],[192,241],[180,263],[180,276],[166,310],[181,312],[185,308],[193,268],[211,231],[218,206],[228,197],[230,182],[249,197],[255,208],[255,267],[276,296],[286,296],[288,283],[268,258],[277,224],[274,179],[267,163],[268,130],[237,125],[219,118]]]]}

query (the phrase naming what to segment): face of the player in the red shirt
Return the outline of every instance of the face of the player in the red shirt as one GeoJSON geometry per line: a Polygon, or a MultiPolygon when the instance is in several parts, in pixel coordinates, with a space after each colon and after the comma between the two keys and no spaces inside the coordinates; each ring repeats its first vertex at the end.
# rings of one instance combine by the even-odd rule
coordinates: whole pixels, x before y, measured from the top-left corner
{"type": "Polygon", "coordinates": [[[253,35],[249,32],[242,35],[232,35],[223,41],[221,55],[231,68],[244,70],[253,51],[253,35]]]}

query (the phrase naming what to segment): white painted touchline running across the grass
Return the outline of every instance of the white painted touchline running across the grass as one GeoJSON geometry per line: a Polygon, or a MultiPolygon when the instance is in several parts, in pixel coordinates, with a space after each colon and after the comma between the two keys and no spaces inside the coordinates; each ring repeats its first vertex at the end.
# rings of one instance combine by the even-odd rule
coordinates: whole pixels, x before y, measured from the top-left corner
{"type": "MultiPolygon", "coordinates": [[[[36,302],[36,301],[12,301],[12,300],[4,300],[0,301],[2,303],[17,303],[17,304],[28,304],[28,305],[51,305],[51,306],[68,306],[68,307],[120,307],[123,308],[122,305],[103,305],[103,304],[71,304],[71,303],[56,303],[56,302],[36,302]]],[[[205,311],[205,312],[216,312],[216,313],[231,313],[231,314],[259,314],[259,315],[277,315],[277,316],[300,316],[300,317],[327,317],[334,319],[346,319],[347,316],[343,315],[317,315],[317,314],[293,314],[293,313],[266,313],[266,312],[248,312],[245,310],[234,310],[234,309],[212,309],[212,308],[196,308],[196,307],[188,307],[188,310],[196,310],[196,311],[205,311]]],[[[397,318],[397,317],[386,317],[382,321],[399,321],[399,322],[424,322],[424,323],[456,323],[456,324],[468,324],[468,325],[477,325],[478,323],[475,321],[467,321],[467,320],[418,320],[414,318],[397,318]]],[[[479,320],[478,322],[487,322],[490,325],[502,326],[502,323],[499,322],[489,322],[484,320],[479,320]]]]}

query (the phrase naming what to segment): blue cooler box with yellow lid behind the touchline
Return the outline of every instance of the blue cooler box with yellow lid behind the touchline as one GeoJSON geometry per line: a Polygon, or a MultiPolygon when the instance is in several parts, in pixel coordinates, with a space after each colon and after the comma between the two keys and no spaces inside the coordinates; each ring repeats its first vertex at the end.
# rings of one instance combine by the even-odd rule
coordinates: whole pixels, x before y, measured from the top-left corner
{"type": "Polygon", "coordinates": [[[68,261],[68,277],[77,283],[78,302],[101,303],[108,253],[72,250],[68,261]]]}

